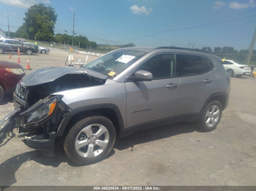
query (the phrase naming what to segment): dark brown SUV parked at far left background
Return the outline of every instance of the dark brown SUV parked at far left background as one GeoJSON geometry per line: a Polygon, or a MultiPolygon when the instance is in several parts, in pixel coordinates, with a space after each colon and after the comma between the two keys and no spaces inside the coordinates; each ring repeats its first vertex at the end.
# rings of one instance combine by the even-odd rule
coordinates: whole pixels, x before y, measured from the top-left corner
{"type": "Polygon", "coordinates": [[[18,48],[20,48],[21,53],[27,55],[37,53],[37,50],[34,47],[26,45],[19,40],[0,38],[0,54],[3,54],[4,52],[17,53],[18,48]]]}

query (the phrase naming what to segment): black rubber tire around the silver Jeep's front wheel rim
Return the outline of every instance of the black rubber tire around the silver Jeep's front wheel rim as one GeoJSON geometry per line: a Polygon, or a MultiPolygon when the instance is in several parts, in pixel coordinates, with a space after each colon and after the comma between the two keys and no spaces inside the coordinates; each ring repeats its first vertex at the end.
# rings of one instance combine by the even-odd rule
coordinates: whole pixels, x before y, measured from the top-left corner
{"type": "MultiPolygon", "coordinates": [[[[94,127],[94,126],[91,126],[91,128],[92,127],[94,127]]],[[[94,136],[92,130],[91,130],[91,132],[92,132],[92,136],[94,136]]],[[[105,134],[104,134],[104,136],[105,136],[105,134]]],[[[86,118],[78,121],[77,123],[75,123],[72,126],[72,128],[70,129],[70,131],[68,132],[68,134],[65,138],[64,150],[65,150],[65,153],[67,154],[68,158],[71,161],[75,162],[76,164],[82,164],[82,165],[93,164],[93,163],[103,160],[109,154],[109,152],[111,151],[111,149],[114,146],[115,137],[116,137],[115,127],[114,127],[113,123],[108,118],[103,117],[103,116],[86,117],[86,118]],[[97,142],[96,133],[98,132],[98,130],[96,133],[94,133],[95,137],[94,138],[91,137],[90,140],[88,139],[89,137],[87,137],[87,135],[85,135],[85,133],[84,133],[85,137],[84,138],[81,137],[82,133],[83,133],[83,132],[81,132],[82,129],[84,129],[92,124],[95,124],[95,125],[100,124],[101,126],[105,127],[108,131],[108,136],[109,136],[108,143],[107,143],[106,147],[103,149],[103,151],[100,151],[100,154],[97,153],[98,145],[96,143],[97,142]],[[82,140],[80,137],[82,138],[82,140]],[[90,145],[91,147],[93,147],[93,155],[95,155],[95,152],[98,155],[93,156],[91,158],[82,157],[80,154],[78,154],[78,151],[75,146],[75,143],[77,141],[89,142],[84,147],[79,148],[80,154],[89,152],[88,149],[89,149],[89,145],[90,145]],[[93,145],[90,142],[94,142],[93,145]],[[86,152],[83,152],[80,150],[80,149],[86,150],[86,148],[87,148],[86,152]]],[[[98,141],[100,141],[100,137],[98,138],[98,141]]]]}

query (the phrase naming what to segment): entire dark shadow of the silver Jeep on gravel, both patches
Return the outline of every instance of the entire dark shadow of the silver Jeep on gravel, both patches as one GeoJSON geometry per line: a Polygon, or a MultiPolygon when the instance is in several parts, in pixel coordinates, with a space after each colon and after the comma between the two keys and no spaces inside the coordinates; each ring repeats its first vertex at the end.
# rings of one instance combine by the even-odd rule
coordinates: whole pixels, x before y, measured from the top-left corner
{"type": "MultiPolygon", "coordinates": [[[[155,127],[144,131],[135,132],[128,137],[117,138],[114,148],[118,150],[123,150],[131,147],[132,150],[133,145],[139,146],[142,143],[194,131],[198,131],[194,123],[186,122],[171,124],[168,126],[155,127]]],[[[81,166],[70,161],[66,156],[63,148],[60,146],[55,148],[55,154],[56,155],[54,157],[48,157],[45,156],[42,152],[34,150],[18,154],[13,156],[12,158],[7,159],[5,162],[0,164],[0,185],[9,186],[16,183],[17,180],[15,178],[15,173],[21,167],[21,165],[27,161],[34,161],[30,163],[31,166],[36,163],[51,167],[58,167],[61,163],[68,163],[68,165],[72,167],[81,166]]],[[[111,152],[105,159],[111,157],[113,154],[115,154],[114,149],[111,150],[111,152]]],[[[26,173],[27,172],[24,172],[24,176],[26,173]]]]}

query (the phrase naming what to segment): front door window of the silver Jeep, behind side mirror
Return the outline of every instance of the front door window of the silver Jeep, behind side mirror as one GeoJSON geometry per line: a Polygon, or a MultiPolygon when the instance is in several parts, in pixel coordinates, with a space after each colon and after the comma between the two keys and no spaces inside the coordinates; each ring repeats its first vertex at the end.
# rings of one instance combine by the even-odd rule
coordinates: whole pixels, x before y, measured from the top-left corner
{"type": "Polygon", "coordinates": [[[174,65],[174,54],[158,54],[142,64],[137,71],[151,72],[153,78],[169,78],[174,76],[174,65]]]}

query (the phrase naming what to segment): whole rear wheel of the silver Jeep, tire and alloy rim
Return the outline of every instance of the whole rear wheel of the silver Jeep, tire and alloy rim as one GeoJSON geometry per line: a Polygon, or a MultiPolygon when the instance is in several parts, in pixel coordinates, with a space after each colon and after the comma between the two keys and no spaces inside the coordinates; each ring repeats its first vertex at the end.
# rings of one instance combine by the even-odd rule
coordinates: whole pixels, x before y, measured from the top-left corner
{"type": "Polygon", "coordinates": [[[198,120],[199,128],[205,132],[216,129],[221,120],[222,106],[219,101],[212,101],[205,107],[200,119],[198,120]]]}

